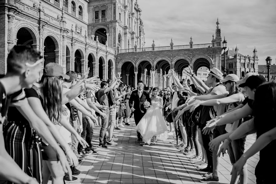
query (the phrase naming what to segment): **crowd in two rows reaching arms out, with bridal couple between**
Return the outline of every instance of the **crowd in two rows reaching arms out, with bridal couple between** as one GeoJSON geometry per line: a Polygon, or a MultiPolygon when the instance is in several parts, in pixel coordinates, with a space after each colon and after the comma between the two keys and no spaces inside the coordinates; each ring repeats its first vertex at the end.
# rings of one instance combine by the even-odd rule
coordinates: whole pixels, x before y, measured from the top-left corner
{"type": "Polygon", "coordinates": [[[189,67],[185,70],[190,79],[180,81],[170,70],[167,87],[145,91],[142,81],[136,90],[116,78],[115,71],[101,81],[88,76],[89,68],[84,74],[64,74],[59,64],[43,63],[39,51],[16,45],[0,78],[0,163],[5,166],[0,176],[9,183],[46,184],[50,176],[53,184],[77,180],[78,164],[98,154],[98,148],[118,145],[116,130],[130,125],[133,116],[137,142],[156,144],[167,134],[173,136],[176,148],[206,172],[200,182],[219,182],[219,157],[227,150],[233,165],[231,184],[247,183],[246,161],[258,151],[257,184],[276,183],[271,156],[276,125],[270,118],[276,109],[276,84],[262,76],[250,72],[241,80],[235,74],[224,78],[212,68],[204,82],[189,67]],[[160,119],[147,116],[147,110],[158,114],[169,131],[158,124],[160,119]],[[94,145],[95,126],[100,126],[99,145],[94,145]],[[151,129],[158,135],[142,133],[151,129]],[[245,151],[246,136],[252,133],[257,139],[245,151]]]}

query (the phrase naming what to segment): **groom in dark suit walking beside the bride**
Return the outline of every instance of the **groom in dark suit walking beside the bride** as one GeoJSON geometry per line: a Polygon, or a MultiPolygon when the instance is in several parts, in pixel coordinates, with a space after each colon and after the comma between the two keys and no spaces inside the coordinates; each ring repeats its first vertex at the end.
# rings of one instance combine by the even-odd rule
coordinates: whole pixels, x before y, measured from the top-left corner
{"type": "MultiPolygon", "coordinates": [[[[148,91],[144,90],[143,81],[138,81],[137,87],[138,90],[132,91],[129,99],[130,110],[134,112],[134,121],[136,125],[138,125],[139,121],[147,111],[144,108],[144,102],[146,102],[146,100],[150,102],[150,95],[148,91]]],[[[141,134],[139,132],[137,132],[137,137],[137,142],[142,142],[141,134]]]]}

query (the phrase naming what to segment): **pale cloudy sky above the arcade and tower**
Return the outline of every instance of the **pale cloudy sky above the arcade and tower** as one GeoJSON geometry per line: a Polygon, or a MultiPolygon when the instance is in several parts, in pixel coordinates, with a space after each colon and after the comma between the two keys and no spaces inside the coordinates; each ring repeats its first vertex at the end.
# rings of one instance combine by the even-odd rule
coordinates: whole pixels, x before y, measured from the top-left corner
{"type": "MultiPolygon", "coordinates": [[[[275,0],[138,0],[145,31],[145,47],[211,43],[217,18],[227,47],[242,55],[257,49],[259,64],[270,56],[276,63],[275,0]]],[[[228,49],[228,48],[227,48],[228,49]]],[[[226,50],[227,50],[226,49],[226,50]]]]}

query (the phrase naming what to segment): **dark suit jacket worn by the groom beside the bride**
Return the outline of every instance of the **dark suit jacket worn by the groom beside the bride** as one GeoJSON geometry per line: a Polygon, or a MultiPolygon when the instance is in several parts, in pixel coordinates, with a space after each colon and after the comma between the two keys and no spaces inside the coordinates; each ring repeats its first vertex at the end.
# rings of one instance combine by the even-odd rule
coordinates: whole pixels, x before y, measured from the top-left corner
{"type": "Polygon", "coordinates": [[[147,110],[144,108],[144,102],[146,102],[146,100],[150,102],[150,95],[148,91],[143,90],[142,96],[139,98],[138,90],[135,90],[130,95],[129,106],[130,108],[133,107],[135,109],[134,113],[146,113],[147,110]]]}

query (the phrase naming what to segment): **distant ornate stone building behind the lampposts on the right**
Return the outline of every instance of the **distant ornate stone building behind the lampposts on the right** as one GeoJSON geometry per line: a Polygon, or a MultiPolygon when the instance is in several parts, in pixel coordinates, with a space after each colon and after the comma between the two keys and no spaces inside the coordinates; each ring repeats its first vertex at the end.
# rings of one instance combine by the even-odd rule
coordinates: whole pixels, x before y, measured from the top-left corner
{"type": "MultiPolygon", "coordinates": [[[[248,72],[258,73],[258,56],[257,50],[254,48],[253,56],[244,56],[240,54],[238,47],[225,52],[226,71],[229,74],[236,74],[239,78],[243,78],[248,72]]],[[[221,55],[221,63],[224,66],[224,54],[221,55]]]]}

